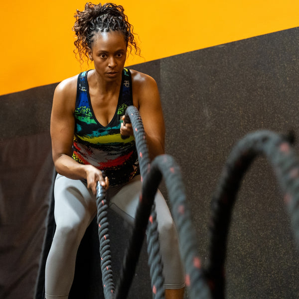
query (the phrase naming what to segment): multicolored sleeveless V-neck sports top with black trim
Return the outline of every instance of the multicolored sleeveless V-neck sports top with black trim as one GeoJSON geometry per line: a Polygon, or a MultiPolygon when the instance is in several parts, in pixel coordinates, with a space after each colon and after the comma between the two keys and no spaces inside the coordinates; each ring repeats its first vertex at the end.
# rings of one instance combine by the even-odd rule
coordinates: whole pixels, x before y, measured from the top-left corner
{"type": "Polygon", "coordinates": [[[131,73],[128,69],[123,70],[116,112],[106,127],[93,113],[87,73],[82,72],[78,77],[73,158],[102,170],[111,186],[121,185],[140,173],[134,137],[122,139],[120,134],[121,117],[126,108],[133,105],[131,73]]]}

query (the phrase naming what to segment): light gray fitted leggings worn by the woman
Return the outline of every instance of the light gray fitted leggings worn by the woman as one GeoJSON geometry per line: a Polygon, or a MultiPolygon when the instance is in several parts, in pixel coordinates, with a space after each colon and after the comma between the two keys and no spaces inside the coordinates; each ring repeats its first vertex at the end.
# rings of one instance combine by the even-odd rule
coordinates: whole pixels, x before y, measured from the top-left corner
{"type": "MultiPolygon", "coordinates": [[[[140,176],[122,187],[109,187],[109,207],[130,223],[141,192],[140,176]]],[[[96,216],[95,196],[81,180],[57,175],[54,187],[56,231],[45,271],[46,299],[67,299],[73,282],[77,250],[83,235],[96,216]]],[[[164,289],[184,287],[184,271],[179,255],[177,232],[168,206],[158,191],[155,196],[164,289]]]]}

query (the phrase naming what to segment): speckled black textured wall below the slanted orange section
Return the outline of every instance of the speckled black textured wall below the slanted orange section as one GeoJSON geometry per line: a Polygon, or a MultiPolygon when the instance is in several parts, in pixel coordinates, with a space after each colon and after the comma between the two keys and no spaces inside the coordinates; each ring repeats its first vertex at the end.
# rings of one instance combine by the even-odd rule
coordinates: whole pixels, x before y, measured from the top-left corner
{"type": "MultiPolygon", "coordinates": [[[[233,145],[245,134],[259,129],[279,133],[293,129],[299,136],[298,53],[299,28],[293,28],[132,66],[153,76],[158,83],[166,124],[166,152],[181,166],[203,261],[207,257],[211,197],[233,145]]],[[[13,159],[15,150],[9,155],[6,148],[3,154],[7,139],[17,144],[17,139],[24,135],[32,135],[32,140],[37,138],[39,142],[48,138],[40,150],[49,154],[54,87],[55,84],[0,97],[2,171],[14,166],[9,159],[13,159]]],[[[26,151],[30,155],[28,161],[34,161],[32,152],[33,149],[26,151]]],[[[51,168],[52,164],[48,164],[51,168]]],[[[20,171],[25,170],[20,168],[20,171]]],[[[52,168],[49,177],[51,172],[52,168]]],[[[3,181],[1,188],[5,188],[3,181]]],[[[161,189],[166,193],[163,185],[161,189]]],[[[15,204],[26,204],[22,194],[20,189],[15,204]]],[[[1,217],[6,211],[2,206],[9,200],[9,196],[1,198],[1,217]]],[[[48,198],[40,200],[48,204],[48,198]]],[[[41,203],[34,201],[34,204],[32,211],[41,203]]],[[[30,213],[28,219],[29,216],[30,213]]],[[[17,219],[17,215],[14,217],[17,219]]],[[[8,228],[11,234],[18,225],[17,221],[11,223],[8,228]]],[[[118,228],[119,225],[112,223],[112,233],[125,238],[118,228]]],[[[7,227],[2,225],[0,229],[3,232],[7,227]]],[[[39,231],[43,233],[44,230],[39,231]]],[[[124,242],[112,239],[112,244],[116,240],[124,242]]],[[[9,244],[6,245],[1,245],[3,263],[10,258],[9,244]]],[[[36,254],[40,254],[38,249],[36,254]]],[[[115,254],[121,256],[121,250],[115,254]]],[[[132,290],[132,294],[137,294],[133,295],[135,298],[150,298],[144,259],[132,290]]],[[[17,288],[25,285],[30,289],[30,284],[32,293],[36,267],[32,271],[30,280],[21,277],[15,283],[14,294],[19,294],[17,288]]],[[[0,273],[1,284],[8,285],[4,275],[0,273]]],[[[298,298],[299,250],[276,177],[263,157],[253,163],[243,179],[233,212],[226,277],[227,298],[298,298]]]]}

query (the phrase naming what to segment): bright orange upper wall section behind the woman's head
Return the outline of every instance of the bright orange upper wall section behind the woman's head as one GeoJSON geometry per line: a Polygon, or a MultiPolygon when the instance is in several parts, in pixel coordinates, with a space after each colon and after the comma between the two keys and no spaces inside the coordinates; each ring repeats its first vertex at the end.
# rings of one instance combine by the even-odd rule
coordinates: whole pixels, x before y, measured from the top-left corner
{"type": "MultiPolygon", "coordinates": [[[[86,1],[1,1],[0,95],[81,71],[71,30],[86,1]]],[[[141,57],[127,65],[299,26],[298,0],[126,0],[141,57]]],[[[90,66],[92,67],[92,66],[90,66]]],[[[84,66],[82,70],[88,68],[84,66]]]]}

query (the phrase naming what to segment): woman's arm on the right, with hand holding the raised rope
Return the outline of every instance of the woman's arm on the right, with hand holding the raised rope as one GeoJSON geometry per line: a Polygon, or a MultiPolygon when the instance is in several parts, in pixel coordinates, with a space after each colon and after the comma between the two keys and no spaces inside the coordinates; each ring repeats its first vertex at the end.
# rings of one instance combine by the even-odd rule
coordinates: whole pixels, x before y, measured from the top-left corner
{"type": "MultiPolygon", "coordinates": [[[[133,87],[133,104],[139,110],[143,121],[149,148],[149,157],[164,153],[165,125],[160,96],[155,80],[149,75],[131,70],[133,87]]],[[[126,126],[127,127],[127,126],[126,126]]],[[[131,128],[132,130],[132,128],[131,128]]],[[[132,135],[123,128],[124,135],[132,135]]]]}

